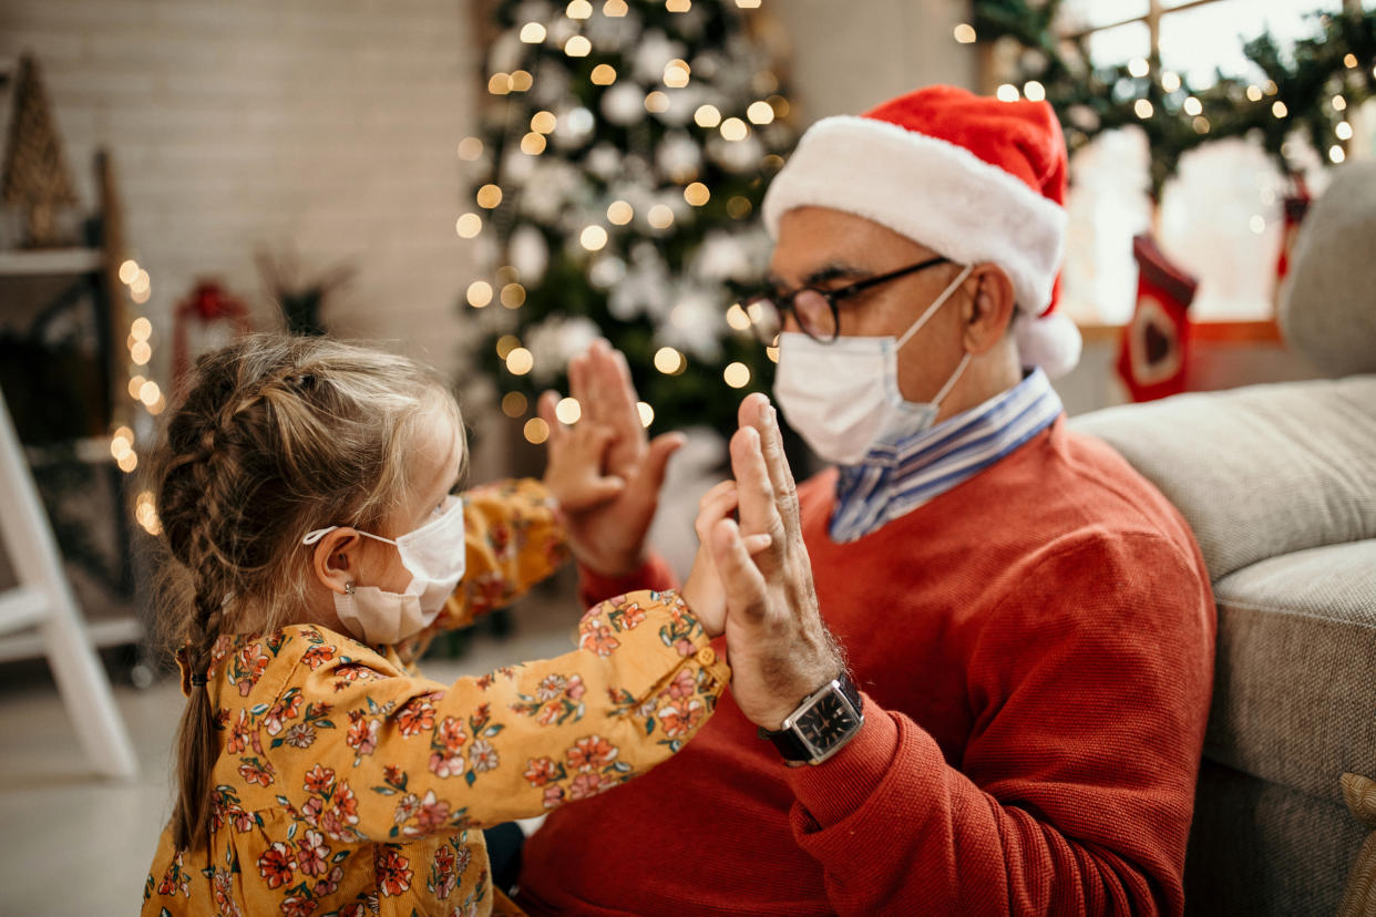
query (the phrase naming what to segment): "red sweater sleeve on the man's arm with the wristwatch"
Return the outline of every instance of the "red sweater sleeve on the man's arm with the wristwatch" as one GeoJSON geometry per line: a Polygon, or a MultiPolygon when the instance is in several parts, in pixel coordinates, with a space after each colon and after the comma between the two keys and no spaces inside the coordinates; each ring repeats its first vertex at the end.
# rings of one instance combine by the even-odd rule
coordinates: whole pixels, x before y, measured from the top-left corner
{"type": "Polygon", "coordinates": [[[963,760],[867,698],[850,745],[788,771],[837,913],[1182,912],[1207,577],[1154,535],[1079,538],[1015,573],[966,646],[963,760]]]}

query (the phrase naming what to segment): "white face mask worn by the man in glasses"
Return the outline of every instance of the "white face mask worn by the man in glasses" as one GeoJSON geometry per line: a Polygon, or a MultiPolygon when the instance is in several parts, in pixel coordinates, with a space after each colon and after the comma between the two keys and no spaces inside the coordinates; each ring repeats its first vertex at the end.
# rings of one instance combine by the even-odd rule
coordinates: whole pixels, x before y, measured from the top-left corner
{"type": "Polygon", "coordinates": [[[951,298],[973,265],[960,271],[903,337],[838,337],[830,344],[801,331],[779,335],[775,400],[812,451],[827,462],[856,465],[882,436],[912,434],[932,426],[941,400],[965,367],[966,353],[936,397],[905,401],[899,392],[899,351],[951,298]]]}

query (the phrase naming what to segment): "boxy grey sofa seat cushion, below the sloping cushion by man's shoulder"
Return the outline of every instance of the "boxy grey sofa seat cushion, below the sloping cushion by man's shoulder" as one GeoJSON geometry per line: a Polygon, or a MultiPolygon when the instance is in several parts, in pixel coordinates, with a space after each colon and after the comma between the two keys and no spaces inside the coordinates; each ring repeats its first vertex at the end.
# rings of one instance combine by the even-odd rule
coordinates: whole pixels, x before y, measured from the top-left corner
{"type": "Polygon", "coordinates": [[[1376,775],[1376,540],[1270,558],[1214,588],[1205,758],[1342,804],[1344,771],[1376,775]]]}

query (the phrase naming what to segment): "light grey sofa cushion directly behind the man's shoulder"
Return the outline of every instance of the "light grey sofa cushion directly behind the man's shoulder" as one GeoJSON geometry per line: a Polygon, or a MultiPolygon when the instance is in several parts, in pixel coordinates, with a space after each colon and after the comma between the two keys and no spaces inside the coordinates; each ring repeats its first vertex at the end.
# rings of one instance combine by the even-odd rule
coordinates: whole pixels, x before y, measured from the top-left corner
{"type": "Polygon", "coordinates": [[[1210,577],[1376,538],[1376,375],[1178,395],[1084,414],[1160,488],[1210,577]]]}

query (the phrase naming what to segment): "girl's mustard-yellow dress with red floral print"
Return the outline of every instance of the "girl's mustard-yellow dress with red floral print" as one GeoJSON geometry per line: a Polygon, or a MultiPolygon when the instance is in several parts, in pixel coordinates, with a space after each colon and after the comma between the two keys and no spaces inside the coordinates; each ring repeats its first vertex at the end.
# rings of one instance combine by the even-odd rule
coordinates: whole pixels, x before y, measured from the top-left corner
{"type": "MultiPolygon", "coordinates": [[[[538,483],[464,499],[468,572],[436,626],[510,601],[566,555],[538,483]]],[[[175,850],[164,830],[143,914],[519,914],[490,884],[480,829],[665,760],[731,678],[671,591],[603,602],[578,634],[559,659],[453,685],[406,661],[428,635],[403,648],[312,624],[222,637],[206,687],[220,725],[209,850],[175,850]]]]}

